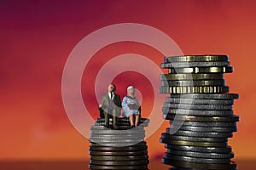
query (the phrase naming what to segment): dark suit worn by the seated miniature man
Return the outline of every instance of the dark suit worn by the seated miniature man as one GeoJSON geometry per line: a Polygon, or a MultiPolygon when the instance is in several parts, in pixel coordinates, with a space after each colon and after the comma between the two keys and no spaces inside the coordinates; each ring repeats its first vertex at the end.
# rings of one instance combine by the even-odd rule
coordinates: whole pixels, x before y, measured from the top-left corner
{"type": "Polygon", "coordinates": [[[104,111],[105,124],[109,124],[109,118],[113,116],[113,126],[117,125],[117,117],[121,115],[122,101],[118,94],[114,94],[113,100],[108,94],[102,96],[102,110],[104,111]]]}

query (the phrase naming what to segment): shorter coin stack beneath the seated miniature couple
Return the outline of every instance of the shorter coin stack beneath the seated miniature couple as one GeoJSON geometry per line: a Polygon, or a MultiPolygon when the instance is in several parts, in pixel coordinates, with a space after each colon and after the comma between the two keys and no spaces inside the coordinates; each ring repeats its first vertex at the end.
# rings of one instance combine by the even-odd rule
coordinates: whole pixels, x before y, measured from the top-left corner
{"type": "MultiPolygon", "coordinates": [[[[148,169],[148,146],[144,141],[148,119],[131,128],[127,118],[119,118],[118,129],[104,127],[104,119],[90,127],[90,169],[148,169]]],[[[112,120],[110,119],[110,125],[112,120]]]]}

